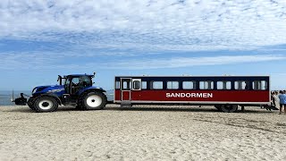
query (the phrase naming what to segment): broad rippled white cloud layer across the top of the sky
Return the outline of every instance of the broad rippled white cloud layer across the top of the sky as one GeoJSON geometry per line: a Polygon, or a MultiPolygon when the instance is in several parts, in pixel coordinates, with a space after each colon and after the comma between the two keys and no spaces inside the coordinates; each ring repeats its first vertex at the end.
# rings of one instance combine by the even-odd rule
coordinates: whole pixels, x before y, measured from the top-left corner
{"type": "Polygon", "coordinates": [[[270,0],[2,0],[0,38],[151,50],[286,43],[286,3],[270,0]]]}

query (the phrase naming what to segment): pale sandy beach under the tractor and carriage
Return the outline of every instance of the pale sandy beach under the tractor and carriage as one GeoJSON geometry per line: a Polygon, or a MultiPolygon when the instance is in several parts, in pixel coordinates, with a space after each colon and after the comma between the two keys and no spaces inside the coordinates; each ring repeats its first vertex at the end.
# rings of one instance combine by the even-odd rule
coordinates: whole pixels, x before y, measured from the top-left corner
{"type": "Polygon", "coordinates": [[[0,107],[0,160],[286,160],[286,114],[248,107],[0,107]]]}

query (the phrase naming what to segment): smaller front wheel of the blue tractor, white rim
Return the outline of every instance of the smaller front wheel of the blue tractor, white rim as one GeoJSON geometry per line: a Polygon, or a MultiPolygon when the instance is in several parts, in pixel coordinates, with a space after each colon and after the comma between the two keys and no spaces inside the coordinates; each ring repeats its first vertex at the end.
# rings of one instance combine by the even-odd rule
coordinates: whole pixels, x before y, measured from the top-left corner
{"type": "Polygon", "coordinates": [[[58,103],[54,97],[38,97],[34,107],[39,113],[53,112],[58,107],[58,103]]]}

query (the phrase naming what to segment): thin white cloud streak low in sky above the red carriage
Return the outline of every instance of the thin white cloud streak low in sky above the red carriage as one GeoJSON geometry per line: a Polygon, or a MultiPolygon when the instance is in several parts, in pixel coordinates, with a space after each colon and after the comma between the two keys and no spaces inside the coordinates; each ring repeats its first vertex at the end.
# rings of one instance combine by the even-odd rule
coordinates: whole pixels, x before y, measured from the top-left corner
{"type": "Polygon", "coordinates": [[[158,68],[179,68],[189,66],[205,66],[220,64],[245,64],[265,61],[275,61],[286,59],[285,55],[222,55],[206,57],[172,57],[165,59],[143,59],[113,62],[105,64],[111,69],[158,69],[158,68]],[[130,66],[132,68],[130,68],[130,66]]]}

